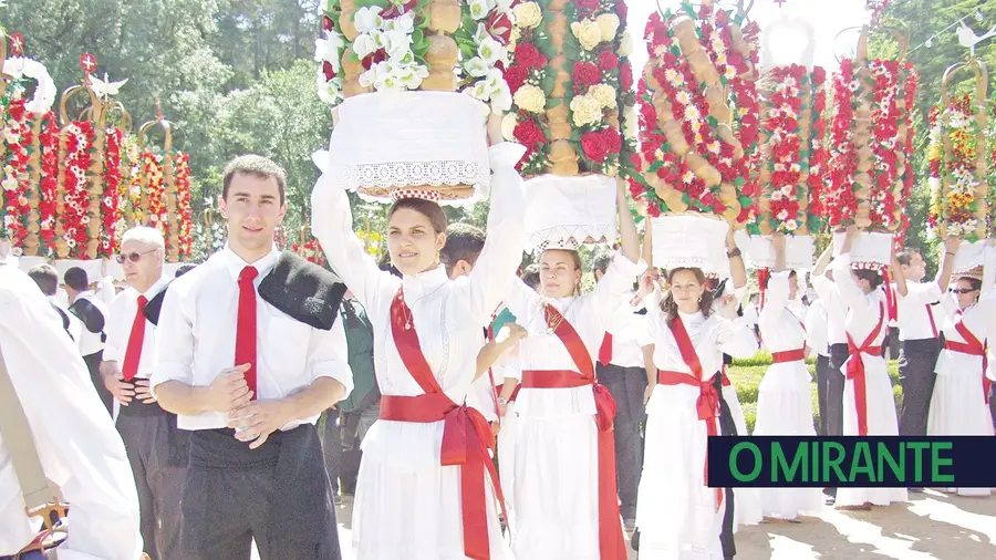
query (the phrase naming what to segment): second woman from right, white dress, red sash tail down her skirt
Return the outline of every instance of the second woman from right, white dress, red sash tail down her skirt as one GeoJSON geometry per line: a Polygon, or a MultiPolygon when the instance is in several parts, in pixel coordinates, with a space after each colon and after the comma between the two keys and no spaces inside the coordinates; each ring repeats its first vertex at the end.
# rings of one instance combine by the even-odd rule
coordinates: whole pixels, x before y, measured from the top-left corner
{"type": "MultiPolygon", "coordinates": [[[[833,282],[847,309],[845,330],[850,355],[841,367],[845,377],[843,395],[844,436],[896,436],[899,419],[892,381],[882,357],[882,342],[889,330],[882,276],[874,269],[854,270],[851,248],[859,236],[848,229],[840,255],[830,265],[833,282]]],[[[878,267],[878,265],[875,265],[878,267]]],[[[842,509],[869,509],[906,501],[905,488],[839,488],[834,505],[842,509]]]]}

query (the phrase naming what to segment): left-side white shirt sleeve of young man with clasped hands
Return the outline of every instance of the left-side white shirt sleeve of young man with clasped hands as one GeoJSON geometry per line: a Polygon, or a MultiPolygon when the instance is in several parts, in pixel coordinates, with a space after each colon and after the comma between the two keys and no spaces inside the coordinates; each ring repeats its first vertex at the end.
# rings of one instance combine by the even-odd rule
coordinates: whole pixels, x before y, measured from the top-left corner
{"type": "Polygon", "coordinates": [[[194,321],[189,284],[176,283],[163,298],[159,324],[156,326],[156,360],[149,377],[149,391],[167,381],[194,386],[194,321]]]}

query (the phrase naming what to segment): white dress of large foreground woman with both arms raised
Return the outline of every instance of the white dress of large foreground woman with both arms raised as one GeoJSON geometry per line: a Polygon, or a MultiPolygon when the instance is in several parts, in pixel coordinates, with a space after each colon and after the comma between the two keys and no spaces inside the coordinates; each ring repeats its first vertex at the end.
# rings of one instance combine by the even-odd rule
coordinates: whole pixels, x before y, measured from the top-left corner
{"type": "MultiPolygon", "coordinates": [[[[491,149],[488,238],[469,276],[449,280],[439,266],[398,279],[377,268],[353,232],[345,191],[323,178],[312,194],[313,232],[333,270],[366,309],[373,325],[374,366],[383,395],[424,392],[398,355],[391,331],[391,302],[404,287],[419,345],[433,374],[454,403],[463,403],[476,372],[481,325],[501,301],[525,245],[521,146],[491,149]]],[[[460,467],[440,466],[444,423],[378,419],[363,439],[353,504],[356,560],[463,560],[460,467]]],[[[485,475],[487,476],[487,475],[485,475]]],[[[501,535],[498,504],[487,489],[491,560],[511,559],[501,535]]]]}

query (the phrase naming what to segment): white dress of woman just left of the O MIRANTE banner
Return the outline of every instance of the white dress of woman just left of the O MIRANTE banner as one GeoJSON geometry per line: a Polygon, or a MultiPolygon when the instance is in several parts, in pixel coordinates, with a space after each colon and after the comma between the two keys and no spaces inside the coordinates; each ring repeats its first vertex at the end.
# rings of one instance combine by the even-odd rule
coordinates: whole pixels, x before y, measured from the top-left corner
{"type": "MultiPolygon", "coordinates": [[[[693,377],[664,314],[657,305],[647,304],[647,309],[640,344],[654,344],[658,371],[685,372],[693,377]]],[[[681,313],[681,318],[705,376],[720,371],[724,353],[734,357],[757,353],[757,338],[741,321],[701,313],[681,313]]],[[[641,560],[723,559],[719,533],[725,507],[717,509],[716,489],[707,487],[704,479],[708,436],[706,422],[698,418],[696,409],[699,393],[697,386],[658,383],[647,402],[646,447],[636,498],[641,560]]],[[[739,488],[735,489],[735,508],[740,500],[736,490],[739,488]]]]}

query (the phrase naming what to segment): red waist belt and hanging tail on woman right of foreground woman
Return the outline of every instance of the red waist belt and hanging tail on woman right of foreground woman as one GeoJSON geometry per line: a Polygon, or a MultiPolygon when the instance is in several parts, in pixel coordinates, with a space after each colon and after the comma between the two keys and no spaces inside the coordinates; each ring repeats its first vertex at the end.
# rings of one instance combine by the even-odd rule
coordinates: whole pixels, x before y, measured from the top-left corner
{"type": "MultiPolygon", "coordinates": [[[[599,542],[618,540],[619,495],[615,474],[615,400],[604,385],[592,383],[570,370],[523,370],[522,388],[570,388],[592,385],[595,401],[595,427],[599,431],[599,542]]],[[[602,558],[605,558],[604,552],[602,558]]],[[[624,558],[620,557],[620,558],[624,558]]]]}

